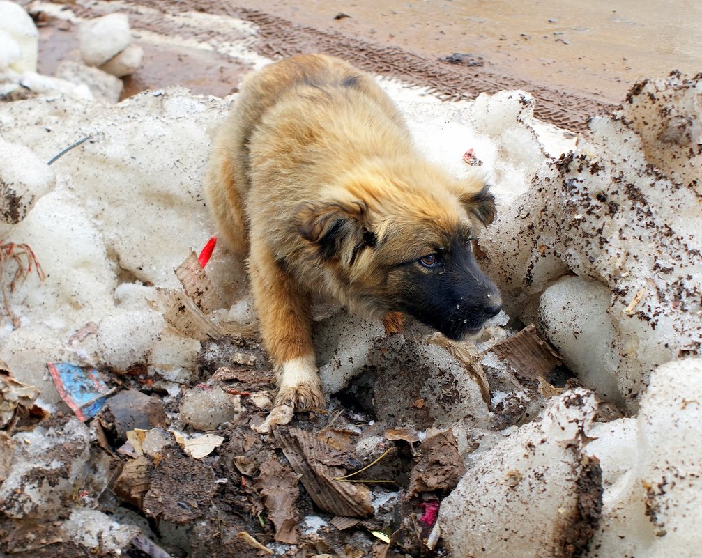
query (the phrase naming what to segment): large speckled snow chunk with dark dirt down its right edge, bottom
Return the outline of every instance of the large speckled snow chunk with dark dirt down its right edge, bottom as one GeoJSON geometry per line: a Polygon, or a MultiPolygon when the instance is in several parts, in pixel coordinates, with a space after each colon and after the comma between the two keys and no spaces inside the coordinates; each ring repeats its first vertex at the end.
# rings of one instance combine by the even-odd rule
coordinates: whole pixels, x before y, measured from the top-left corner
{"type": "Polygon", "coordinates": [[[591,392],[566,392],[544,423],[520,427],[477,460],[439,510],[452,556],[567,557],[583,547],[601,501],[600,469],[580,451],[595,408],[591,392]]]}

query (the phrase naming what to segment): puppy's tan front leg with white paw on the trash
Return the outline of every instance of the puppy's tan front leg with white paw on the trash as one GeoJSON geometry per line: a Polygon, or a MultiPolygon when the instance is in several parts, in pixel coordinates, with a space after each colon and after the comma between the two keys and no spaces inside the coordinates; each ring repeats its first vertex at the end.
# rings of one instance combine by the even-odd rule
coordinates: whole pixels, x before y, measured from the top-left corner
{"type": "Polygon", "coordinates": [[[293,284],[263,243],[252,243],[249,267],[263,344],[278,378],[276,406],[324,408],[312,346],[310,297],[293,284]]]}

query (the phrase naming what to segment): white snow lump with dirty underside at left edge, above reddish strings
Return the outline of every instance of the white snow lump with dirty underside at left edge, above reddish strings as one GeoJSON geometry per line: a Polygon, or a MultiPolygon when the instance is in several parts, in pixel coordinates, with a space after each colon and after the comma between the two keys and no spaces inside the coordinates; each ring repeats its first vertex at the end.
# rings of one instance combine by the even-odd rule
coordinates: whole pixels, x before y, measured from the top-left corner
{"type": "Polygon", "coordinates": [[[24,145],[0,138],[0,220],[18,223],[34,202],[53,189],[56,177],[46,161],[41,161],[24,145]]]}

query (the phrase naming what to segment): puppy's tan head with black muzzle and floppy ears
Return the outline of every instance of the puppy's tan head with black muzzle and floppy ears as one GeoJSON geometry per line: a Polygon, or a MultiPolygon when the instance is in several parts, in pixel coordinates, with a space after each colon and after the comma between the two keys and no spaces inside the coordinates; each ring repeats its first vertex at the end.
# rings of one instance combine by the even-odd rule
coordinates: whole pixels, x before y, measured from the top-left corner
{"type": "Polygon", "coordinates": [[[404,312],[460,340],[502,307],[472,250],[494,219],[494,197],[482,180],[422,170],[354,176],[326,201],[303,204],[298,231],[335,275],[343,302],[404,312]]]}

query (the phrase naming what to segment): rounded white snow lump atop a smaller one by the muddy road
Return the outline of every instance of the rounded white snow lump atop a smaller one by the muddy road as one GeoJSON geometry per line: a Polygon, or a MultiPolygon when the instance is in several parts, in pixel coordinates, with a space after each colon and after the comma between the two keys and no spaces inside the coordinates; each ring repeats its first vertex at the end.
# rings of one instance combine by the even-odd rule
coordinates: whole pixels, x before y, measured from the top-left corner
{"type": "Polygon", "coordinates": [[[87,65],[105,64],[131,43],[129,18],[124,13],[111,13],[84,21],[78,29],[78,41],[87,65]]]}

